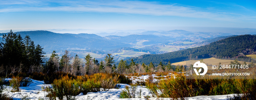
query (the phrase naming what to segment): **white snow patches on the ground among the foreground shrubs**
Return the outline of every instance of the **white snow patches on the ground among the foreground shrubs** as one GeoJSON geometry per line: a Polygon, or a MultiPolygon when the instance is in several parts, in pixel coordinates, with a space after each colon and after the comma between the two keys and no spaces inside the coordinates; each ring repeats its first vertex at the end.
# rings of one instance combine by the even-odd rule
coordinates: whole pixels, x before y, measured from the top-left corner
{"type": "MultiPolygon", "coordinates": [[[[146,78],[148,76],[145,76],[146,78]]],[[[10,79],[8,79],[10,80],[10,79]]],[[[24,96],[28,96],[31,100],[44,99],[46,100],[45,95],[46,92],[42,91],[42,87],[50,86],[50,84],[44,84],[44,81],[32,80],[33,83],[29,85],[29,87],[20,87],[21,92],[10,92],[11,87],[7,86],[7,90],[4,93],[12,96],[14,100],[20,100],[24,96]]],[[[119,89],[110,89],[109,91],[101,91],[101,92],[89,92],[86,95],[80,93],[77,98],[78,100],[145,100],[143,96],[151,96],[151,93],[144,86],[138,86],[138,91],[142,89],[142,98],[131,98],[131,99],[120,99],[121,91],[128,84],[119,84],[121,87],[119,89]]],[[[232,95],[217,95],[217,96],[195,96],[189,97],[189,100],[226,100],[227,96],[232,95]]],[[[151,97],[150,100],[157,100],[157,98],[151,97]]],[[[165,100],[169,100],[165,98],[165,100]]]]}

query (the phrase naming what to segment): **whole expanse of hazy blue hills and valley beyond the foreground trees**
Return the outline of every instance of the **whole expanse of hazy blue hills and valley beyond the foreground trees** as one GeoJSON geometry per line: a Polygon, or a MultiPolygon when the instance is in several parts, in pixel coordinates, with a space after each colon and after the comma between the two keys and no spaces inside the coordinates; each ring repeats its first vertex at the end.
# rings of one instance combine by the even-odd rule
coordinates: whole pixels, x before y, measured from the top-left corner
{"type": "MultiPolygon", "coordinates": [[[[102,57],[106,53],[115,53],[115,55],[121,57],[121,54],[124,54],[122,52],[125,51],[125,55],[121,58],[142,54],[160,54],[198,47],[225,39],[230,37],[230,35],[235,35],[230,33],[188,32],[184,30],[144,31],[135,33],[115,32],[113,34],[117,35],[104,37],[88,33],[71,34],[50,31],[20,31],[15,33],[20,34],[23,38],[29,35],[35,44],[39,44],[44,48],[46,54],[52,53],[53,50],[57,52],[69,50],[72,53],[79,52],[82,57],[87,53],[95,53],[97,54],[95,56],[102,57]],[[127,35],[124,36],[125,34],[127,35]],[[128,53],[127,51],[131,52],[128,53]]],[[[3,34],[6,33],[0,33],[1,36],[3,34]]]]}

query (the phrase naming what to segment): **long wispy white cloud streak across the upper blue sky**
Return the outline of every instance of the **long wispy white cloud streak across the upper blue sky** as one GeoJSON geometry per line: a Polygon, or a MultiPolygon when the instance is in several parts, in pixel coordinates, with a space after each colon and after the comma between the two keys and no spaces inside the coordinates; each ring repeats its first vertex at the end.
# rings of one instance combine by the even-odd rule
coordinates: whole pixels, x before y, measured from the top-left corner
{"type": "MultiPolygon", "coordinates": [[[[66,11],[66,12],[107,12],[129,13],[154,16],[178,16],[213,20],[236,21],[248,17],[228,12],[207,12],[196,7],[177,4],[159,4],[146,1],[39,1],[39,0],[0,0],[0,12],[23,11],[66,11]]],[[[252,18],[251,18],[252,19],[252,18]]]]}

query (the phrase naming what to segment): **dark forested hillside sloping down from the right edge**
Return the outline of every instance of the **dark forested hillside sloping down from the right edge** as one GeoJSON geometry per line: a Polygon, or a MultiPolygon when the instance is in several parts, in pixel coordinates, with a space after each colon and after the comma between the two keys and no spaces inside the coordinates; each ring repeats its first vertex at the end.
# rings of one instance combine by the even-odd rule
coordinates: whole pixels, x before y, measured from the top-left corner
{"type": "MultiPolygon", "coordinates": [[[[256,36],[255,35],[240,35],[215,41],[208,45],[201,47],[183,49],[180,51],[168,52],[163,54],[146,54],[139,57],[132,57],[133,61],[142,64],[159,64],[162,61],[163,64],[167,64],[185,60],[192,56],[192,58],[243,58],[247,54],[256,53],[256,36]]],[[[127,62],[131,61],[128,59],[127,62]]]]}

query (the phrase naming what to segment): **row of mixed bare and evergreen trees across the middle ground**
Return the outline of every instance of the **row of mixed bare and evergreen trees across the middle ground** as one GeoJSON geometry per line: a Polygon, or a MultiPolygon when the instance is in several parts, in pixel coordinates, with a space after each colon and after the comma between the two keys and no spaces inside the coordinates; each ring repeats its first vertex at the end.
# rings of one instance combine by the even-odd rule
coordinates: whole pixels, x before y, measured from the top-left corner
{"type": "Polygon", "coordinates": [[[184,71],[184,68],[181,66],[174,66],[170,62],[166,65],[160,62],[158,65],[153,64],[152,62],[148,65],[138,64],[131,60],[131,63],[127,63],[125,60],[120,60],[118,64],[114,64],[114,56],[108,53],[104,60],[100,62],[93,59],[88,53],[84,60],[79,58],[78,55],[75,57],[71,56],[69,51],[65,50],[65,54],[60,56],[53,51],[50,59],[45,63],[46,73],[54,72],[64,72],[71,75],[92,75],[94,73],[120,73],[120,74],[129,74],[129,73],[145,73],[145,72],[163,72],[163,71],[184,71]]]}

